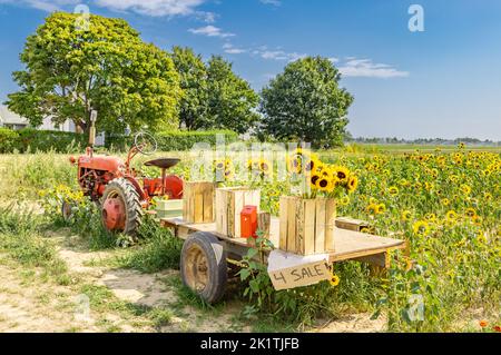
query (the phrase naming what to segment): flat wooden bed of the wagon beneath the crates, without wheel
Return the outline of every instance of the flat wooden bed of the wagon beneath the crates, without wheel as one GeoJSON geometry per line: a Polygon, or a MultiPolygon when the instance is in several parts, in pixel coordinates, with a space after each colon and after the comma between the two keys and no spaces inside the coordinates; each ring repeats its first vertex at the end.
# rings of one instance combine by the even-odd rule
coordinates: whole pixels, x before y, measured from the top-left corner
{"type": "MultiPolygon", "coordinates": [[[[341,220],[344,219],[340,218],[340,221],[341,220]]],[[[175,236],[181,239],[186,239],[190,234],[197,231],[209,233],[224,243],[228,257],[232,259],[242,259],[249,248],[247,239],[245,238],[230,238],[217,233],[215,223],[189,224],[184,221],[183,217],[173,217],[161,218],[160,224],[163,227],[171,228],[175,236]]],[[[278,228],[279,219],[277,217],[272,217],[269,240],[275,247],[278,246],[279,240],[278,228]]],[[[407,248],[407,243],[405,240],[373,236],[340,227],[334,228],[334,245],[335,252],[328,254],[330,263],[355,259],[380,267],[389,267],[386,254],[390,250],[407,248]]]]}

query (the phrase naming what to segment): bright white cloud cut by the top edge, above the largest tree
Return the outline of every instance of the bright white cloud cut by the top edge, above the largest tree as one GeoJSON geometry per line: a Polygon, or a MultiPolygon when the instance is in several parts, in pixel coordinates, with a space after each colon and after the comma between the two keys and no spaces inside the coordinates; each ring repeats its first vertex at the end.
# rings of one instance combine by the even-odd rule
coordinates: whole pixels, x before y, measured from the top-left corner
{"type": "Polygon", "coordinates": [[[196,14],[195,9],[206,0],[95,0],[95,2],[111,10],[163,17],[196,14]]]}

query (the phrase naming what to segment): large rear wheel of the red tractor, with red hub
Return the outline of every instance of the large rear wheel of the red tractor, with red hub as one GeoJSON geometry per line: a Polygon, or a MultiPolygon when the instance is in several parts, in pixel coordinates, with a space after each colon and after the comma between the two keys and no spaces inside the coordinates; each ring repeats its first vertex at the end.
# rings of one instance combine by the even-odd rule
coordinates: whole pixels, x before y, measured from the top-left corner
{"type": "Polygon", "coordinates": [[[129,180],[118,178],[106,186],[101,204],[101,220],[106,229],[135,235],[141,216],[139,195],[129,180]]]}

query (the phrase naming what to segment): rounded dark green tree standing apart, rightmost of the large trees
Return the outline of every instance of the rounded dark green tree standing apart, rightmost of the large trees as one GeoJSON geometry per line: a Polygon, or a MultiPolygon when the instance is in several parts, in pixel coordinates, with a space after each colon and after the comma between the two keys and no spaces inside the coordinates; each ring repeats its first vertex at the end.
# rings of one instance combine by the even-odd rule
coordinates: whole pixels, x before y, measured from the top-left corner
{"type": "Polygon", "coordinates": [[[299,59],[262,90],[263,134],[278,140],[301,139],[314,147],[342,145],[353,97],[340,88],[331,60],[299,59]]]}

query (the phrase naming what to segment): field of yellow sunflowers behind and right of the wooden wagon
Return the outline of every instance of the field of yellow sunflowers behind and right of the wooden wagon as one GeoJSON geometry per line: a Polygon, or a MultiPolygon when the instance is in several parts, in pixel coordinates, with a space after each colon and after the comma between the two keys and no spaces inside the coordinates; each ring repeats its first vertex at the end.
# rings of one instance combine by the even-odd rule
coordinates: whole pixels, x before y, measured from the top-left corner
{"type": "MultiPolygon", "coordinates": [[[[228,177],[226,184],[235,184],[232,161],[216,162],[216,169],[228,177]]],[[[266,179],[273,166],[263,158],[248,162],[257,171],[253,175],[259,180],[263,209],[277,215],[279,196],[294,194],[294,175],[308,172],[311,190],[305,197],[336,197],[337,215],[370,223],[364,233],[411,245],[410,256],[395,255],[391,269],[379,280],[357,285],[355,279],[367,277],[366,268],[345,263],[336,266],[335,285],[267,295],[268,306],[275,305],[273,312],[284,310],[288,303],[294,312],[303,305],[311,310],[308,318],[328,313],[335,300],[348,307],[354,303],[369,306],[374,317],[384,313],[389,329],[397,332],[454,331],[454,324],[479,309],[499,323],[499,154],[469,151],[463,145],[453,152],[436,149],[405,155],[296,150],[287,157],[289,178],[282,183],[266,179]]],[[[269,287],[269,283],[257,279],[261,285],[254,288],[259,297],[263,290],[257,288],[269,287]]],[[[257,302],[263,306],[263,299],[257,302]]]]}

